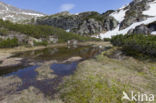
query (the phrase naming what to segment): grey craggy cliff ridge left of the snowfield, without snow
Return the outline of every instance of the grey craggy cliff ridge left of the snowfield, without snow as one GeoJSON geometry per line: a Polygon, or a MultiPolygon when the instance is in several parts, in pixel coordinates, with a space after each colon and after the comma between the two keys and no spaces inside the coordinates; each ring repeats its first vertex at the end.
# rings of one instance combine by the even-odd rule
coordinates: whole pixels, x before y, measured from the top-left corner
{"type": "Polygon", "coordinates": [[[40,17],[36,20],[36,24],[51,25],[81,35],[99,34],[113,30],[118,25],[118,22],[109,16],[112,12],[108,11],[104,14],[94,11],[80,14],[62,12],[51,16],[40,17]]]}

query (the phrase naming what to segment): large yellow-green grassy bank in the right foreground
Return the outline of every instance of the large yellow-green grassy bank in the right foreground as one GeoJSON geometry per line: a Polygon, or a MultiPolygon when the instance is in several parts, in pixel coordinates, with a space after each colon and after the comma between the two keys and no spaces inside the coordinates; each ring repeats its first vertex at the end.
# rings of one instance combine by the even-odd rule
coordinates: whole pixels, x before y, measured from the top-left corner
{"type": "Polygon", "coordinates": [[[65,103],[129,103],[121,100],[123,91],[156,94],[156,63],[109,58],[115,50],[80,63],[75,74],[61,84],[60,98],[65,103]]]}

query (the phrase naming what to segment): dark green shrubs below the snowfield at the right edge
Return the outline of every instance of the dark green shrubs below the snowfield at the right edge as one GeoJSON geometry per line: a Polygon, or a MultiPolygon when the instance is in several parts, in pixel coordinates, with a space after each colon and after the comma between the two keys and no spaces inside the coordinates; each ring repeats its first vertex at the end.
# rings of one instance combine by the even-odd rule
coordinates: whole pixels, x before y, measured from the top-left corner
{"type": "Polygon", "coordinates": [[[117,35],[112,37],[111,43],[121,46],[130,55],[146,54],[156,56],[156,36],[152,35],[117,35]]]}

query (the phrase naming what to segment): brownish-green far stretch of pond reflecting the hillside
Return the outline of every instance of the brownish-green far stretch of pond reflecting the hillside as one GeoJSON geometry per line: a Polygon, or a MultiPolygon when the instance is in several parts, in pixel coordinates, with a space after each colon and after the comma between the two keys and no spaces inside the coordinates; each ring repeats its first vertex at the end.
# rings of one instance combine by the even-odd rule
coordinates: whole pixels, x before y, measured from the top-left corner
{"type": "Polygon", "coordinates": [[[84,59],[87,59],[88,57],[92,57],[98,51],[99,48],[94,48],[91,46],[79,46],[77,48],[59,47],[17,53],[15,57],[24,57],[34,59],[35,61],[63,61],[73,56],[80,56],[84,59]]]}

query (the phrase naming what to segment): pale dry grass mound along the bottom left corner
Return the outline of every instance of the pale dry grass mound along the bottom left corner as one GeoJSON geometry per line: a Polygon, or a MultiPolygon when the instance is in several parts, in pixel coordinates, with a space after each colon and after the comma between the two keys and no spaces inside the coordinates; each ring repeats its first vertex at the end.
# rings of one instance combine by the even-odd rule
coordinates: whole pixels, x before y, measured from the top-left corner
{"type": "Polygon", "coordinates": [[[19,93],[9,96],[1,103],[63,103],[59,99],[51,100],[46,98],[40,90],[29,87],[19,93]]]}

